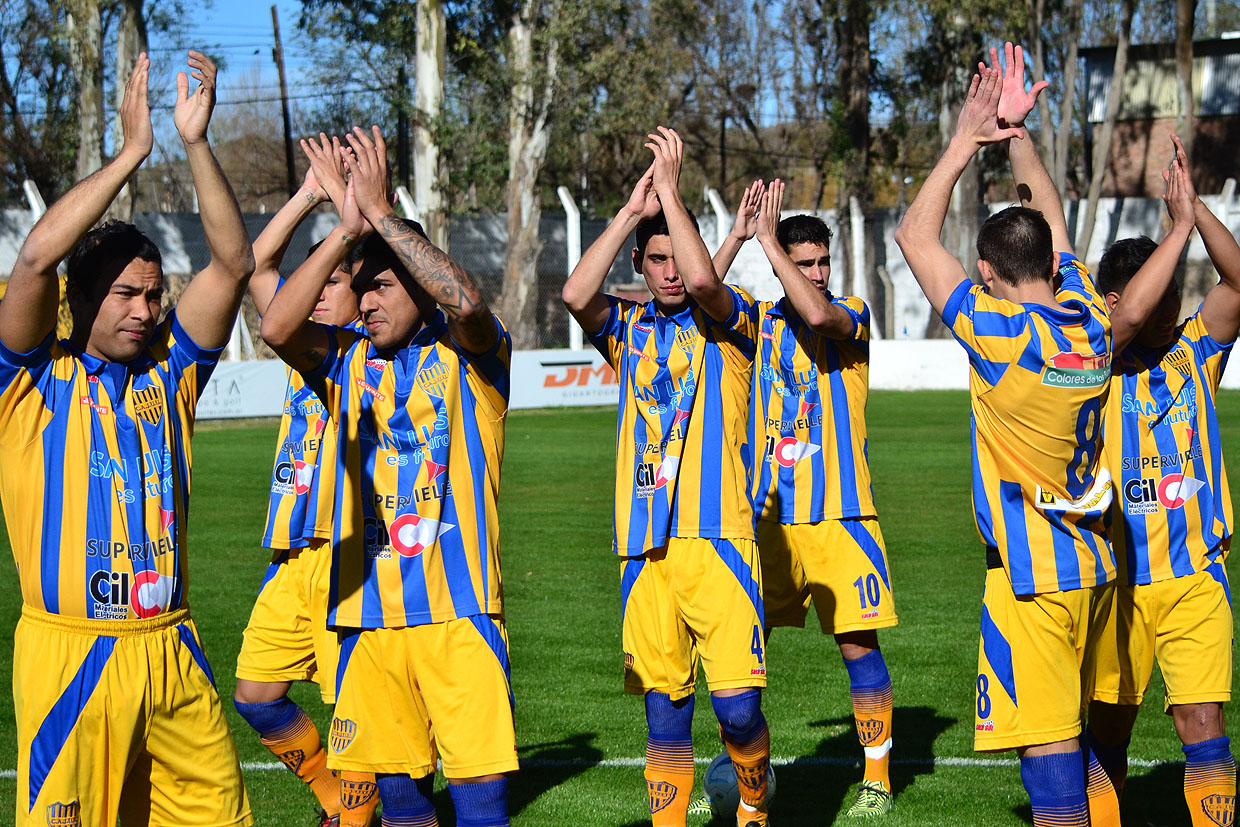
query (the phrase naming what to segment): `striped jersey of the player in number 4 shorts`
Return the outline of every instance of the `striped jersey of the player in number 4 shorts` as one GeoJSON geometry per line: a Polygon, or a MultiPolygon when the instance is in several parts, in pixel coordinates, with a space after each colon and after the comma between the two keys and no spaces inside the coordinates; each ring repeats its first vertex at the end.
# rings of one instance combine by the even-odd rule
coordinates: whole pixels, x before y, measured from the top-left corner
{"type": "Polygon", "coordinates": [[[665,316],[653,301],[608,296],[591,343],[620,384],[614,547],[636,557],[668,537],[754,537],[749,382],[758,307],[739,288],[715,322],[689,303],[665,316]]]}

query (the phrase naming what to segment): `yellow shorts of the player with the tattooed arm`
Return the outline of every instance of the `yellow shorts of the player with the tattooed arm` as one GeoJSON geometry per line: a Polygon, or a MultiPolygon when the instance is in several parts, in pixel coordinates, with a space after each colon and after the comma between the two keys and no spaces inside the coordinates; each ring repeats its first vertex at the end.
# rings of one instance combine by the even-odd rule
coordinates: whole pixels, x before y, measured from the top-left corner
{"type": "Polygon", "coordinates": [[[327,766],[360,772],[435,771],[449,779],[517,769],[503,620],[458,617],[346,635],[327,766]]]}

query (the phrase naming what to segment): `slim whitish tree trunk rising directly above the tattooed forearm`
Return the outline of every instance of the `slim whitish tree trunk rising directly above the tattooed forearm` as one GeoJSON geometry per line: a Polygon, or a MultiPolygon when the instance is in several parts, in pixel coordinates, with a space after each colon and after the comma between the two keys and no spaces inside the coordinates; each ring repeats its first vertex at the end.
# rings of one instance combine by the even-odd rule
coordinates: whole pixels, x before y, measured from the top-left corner
{"type": "Polygon", "coordinates": [[[418,0],[417,123],[413,129],[413,201],[430,242],[448,249],[448,213],[444,210],[443,167],[439,143],[432,130],[444,109],[445,43],[448,24],[443,0],[418,0]]]}

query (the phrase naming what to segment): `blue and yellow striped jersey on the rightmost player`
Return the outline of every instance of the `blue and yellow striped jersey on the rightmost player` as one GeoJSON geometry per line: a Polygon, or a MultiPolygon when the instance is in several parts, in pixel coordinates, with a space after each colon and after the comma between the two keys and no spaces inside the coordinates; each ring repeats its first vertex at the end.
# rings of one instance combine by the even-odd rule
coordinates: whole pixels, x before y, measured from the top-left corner
{"type": "Polygon", "coordinates": [[[1231,537],[1214,396],[1231,345],[1210,338],[1200,310],[1171,345],[1130,345],[1111,379],[1104,418],[1116,480],[1111,542],[1122,582],[1200,572],[1231,537]]]}

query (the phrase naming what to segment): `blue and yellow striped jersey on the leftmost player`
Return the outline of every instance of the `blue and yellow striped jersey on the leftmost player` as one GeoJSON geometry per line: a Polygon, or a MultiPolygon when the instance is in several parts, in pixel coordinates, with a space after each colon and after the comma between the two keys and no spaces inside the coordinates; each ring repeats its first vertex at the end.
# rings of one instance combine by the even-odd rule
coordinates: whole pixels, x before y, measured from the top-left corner
{"type": "Polygon", "coordinates": [[[26,605],[118,622],[185,605],[190,438],[219,353],[175,315],[128,363],[51,336],[0,345],[0,500],[26,605]]]}

